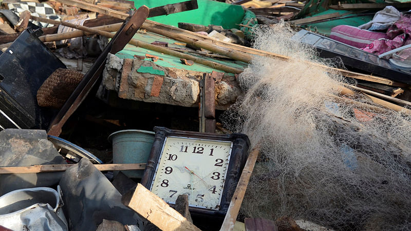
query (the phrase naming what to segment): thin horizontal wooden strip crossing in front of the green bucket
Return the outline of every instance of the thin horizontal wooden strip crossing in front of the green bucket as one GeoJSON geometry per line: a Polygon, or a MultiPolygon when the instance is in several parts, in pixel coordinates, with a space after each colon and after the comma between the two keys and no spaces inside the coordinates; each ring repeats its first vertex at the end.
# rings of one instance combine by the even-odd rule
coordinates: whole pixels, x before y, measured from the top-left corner
{"type": "MultiPolygon", "coordinates": [[[[47,164],[32,166],[0,167],[0,174],[28,174],[39,172],[65,171],[73,164],[47,164]]],[[[145,163],[141,164],[95,164],[100,171],[144,170],[145,163]]]]}

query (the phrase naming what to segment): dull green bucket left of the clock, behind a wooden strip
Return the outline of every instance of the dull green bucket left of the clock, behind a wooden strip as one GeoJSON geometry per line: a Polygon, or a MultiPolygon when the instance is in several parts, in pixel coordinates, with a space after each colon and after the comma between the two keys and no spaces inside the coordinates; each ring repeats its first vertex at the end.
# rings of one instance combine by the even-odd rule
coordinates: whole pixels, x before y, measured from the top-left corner
{"type": "MultiPolygon", "coordinates": [[[[114,164],[147,163],[155,133],[144,130],[121,130],[110,134],[114,164]]],[[[142,178],[144,170],[123,171],[127,177],[142,178]]]]}

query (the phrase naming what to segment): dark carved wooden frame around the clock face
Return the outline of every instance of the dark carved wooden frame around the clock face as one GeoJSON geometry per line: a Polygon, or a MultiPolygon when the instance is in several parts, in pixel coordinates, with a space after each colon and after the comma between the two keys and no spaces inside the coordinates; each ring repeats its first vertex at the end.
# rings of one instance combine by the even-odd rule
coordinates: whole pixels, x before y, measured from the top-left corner
{"type": "Polygon", "coordinates": [[[172,130],[165,127],[154,127],[156,136],[154,138],[153,146],[148,157],[147,165],[144,170],[141,184],[150,189],[155,175],[156,167],[159,164],[161,150],[166,137],[188,137],[215,141],[231,141],[233,147],[231,149],[231,156],[228,169],[226,171],[226,182],[221,196],[219,210],[211,210],[206,208],[189,207],[190,213],[193,215],[205,216],[219,216],[224,217],[227,214],[228,207],[233,197],[238,180],[241,176],[242,169],[246,164],[248,157],[248,148],[250,147],[250,140],[246,134],[216,134],[203,133],[195,131],[181,131],[172,130]]]}

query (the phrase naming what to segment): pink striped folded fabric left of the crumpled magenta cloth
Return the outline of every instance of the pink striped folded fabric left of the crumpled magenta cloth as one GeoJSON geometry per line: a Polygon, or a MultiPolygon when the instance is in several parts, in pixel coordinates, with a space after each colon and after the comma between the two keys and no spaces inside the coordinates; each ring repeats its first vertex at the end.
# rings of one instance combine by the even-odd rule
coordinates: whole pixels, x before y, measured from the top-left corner
{"type": "Polygon", "coordinates": [[[385,33],[362,30],[358,27],[340,25],[331,29],[330,38],[357,48],[365,48],[372,41],[388,38],[385,33]]]}

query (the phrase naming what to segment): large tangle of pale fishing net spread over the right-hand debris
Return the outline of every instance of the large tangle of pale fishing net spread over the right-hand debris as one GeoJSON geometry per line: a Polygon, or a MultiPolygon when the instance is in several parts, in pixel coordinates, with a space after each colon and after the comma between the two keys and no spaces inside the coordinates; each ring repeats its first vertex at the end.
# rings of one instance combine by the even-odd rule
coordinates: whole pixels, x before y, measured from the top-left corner
{"type": "Polygon", "coordinates": [[[292,42],[286,25],[255,34],[255,48],[293,59],[255,57],[239,75],[244,98],[221,118],[260,144],[242,213],[338,229],[411,229],[411,116],[342,96],[344,78],[306,62],[332,64],[292,42]]]}

